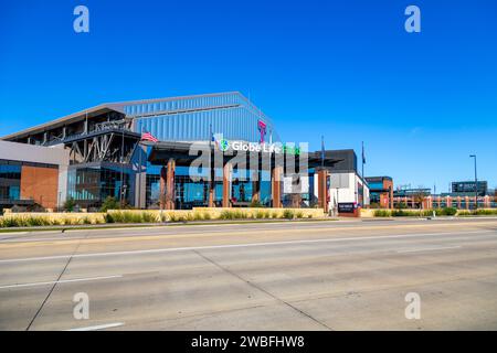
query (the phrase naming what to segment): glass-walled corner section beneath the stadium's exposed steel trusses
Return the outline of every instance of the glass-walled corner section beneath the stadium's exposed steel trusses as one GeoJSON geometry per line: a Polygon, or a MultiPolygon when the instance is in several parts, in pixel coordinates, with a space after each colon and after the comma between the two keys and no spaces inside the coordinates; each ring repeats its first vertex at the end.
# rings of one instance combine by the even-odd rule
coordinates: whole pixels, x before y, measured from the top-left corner
{"type": "Polygon", "coordinates": [[[131,173],[129,169],[116,167],[84,167],[71,169],[67,173],[67,197],[85,207],[99,207],[108,196],[133,204],[131,173]],[[121,186],[123,185],[123,186],[121,186]]]}

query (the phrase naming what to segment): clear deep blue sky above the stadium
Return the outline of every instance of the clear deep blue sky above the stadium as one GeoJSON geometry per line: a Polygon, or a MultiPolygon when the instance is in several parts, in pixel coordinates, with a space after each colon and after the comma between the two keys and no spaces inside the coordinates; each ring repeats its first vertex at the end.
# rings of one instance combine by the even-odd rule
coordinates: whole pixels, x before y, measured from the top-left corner
{"type": "Polygon", "coordinates": [[[0,136],[106,101],[240,90],[367,175],[497,185],[497,1],[4,0],[0,136]],[[89,33],[73,10],[89,9],[89,33]],[[421,9],[421,33],[404,10],[421,9]]]}

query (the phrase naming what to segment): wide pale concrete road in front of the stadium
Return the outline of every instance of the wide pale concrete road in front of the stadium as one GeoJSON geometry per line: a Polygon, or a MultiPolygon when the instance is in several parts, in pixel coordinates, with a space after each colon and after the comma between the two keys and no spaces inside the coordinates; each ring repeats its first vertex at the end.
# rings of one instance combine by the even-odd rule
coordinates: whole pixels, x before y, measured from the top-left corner
{"type": "Polygon", "coordinates": [[[0,234],[0,330],[74,329],[496,330],[497,220],[0,234]]]}

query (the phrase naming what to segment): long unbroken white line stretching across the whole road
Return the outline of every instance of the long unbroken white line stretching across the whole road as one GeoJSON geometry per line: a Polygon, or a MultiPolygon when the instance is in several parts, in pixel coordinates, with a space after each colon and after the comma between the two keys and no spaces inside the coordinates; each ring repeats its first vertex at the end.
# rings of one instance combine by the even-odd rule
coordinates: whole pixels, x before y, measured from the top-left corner
{"type": "Polygon", "coordinates": [[[189,252],[189,250],[209,250],[209,249],[225,249],[225,248],[240,248],[240,247],[278,246],[278,245],[293,245],[293,244],[360,242],[360,240],[371,240],[371,239],[412,238],[412,237],[421,237],[421,236],[444,236],[444,235],[451,236],[451,235],[456,235],[456,234],[466,235],[466,234],[474,234],[474,233],[482,234],[482,233],[496,233],[496,232],[495,231],[475,231],[475,232],[461,232],[461,233],[419,233],[419,234],[379,235],[379,236],[361,236],[361,237],[347,237],[347,238],[321,238],[321,239],[308,239],[308,240],[228,244],[228,245],[190,246],[190,247],[168,247],[168,248],[148,249],[148,250],[91,253],[91,254],[76,254],[76,255],[56,255],[56,256],[45,256],[45,257],[13,258],[13,259],[0,260],[0,264],[24,263],[24,261],[44,261],[44,260],[66,259],[70,257],[85,258],[85,257],[105,257],[105,256],[127,256],[127,255],[141,255],[141,254],[177,253],[177,252],[189,252]]]}

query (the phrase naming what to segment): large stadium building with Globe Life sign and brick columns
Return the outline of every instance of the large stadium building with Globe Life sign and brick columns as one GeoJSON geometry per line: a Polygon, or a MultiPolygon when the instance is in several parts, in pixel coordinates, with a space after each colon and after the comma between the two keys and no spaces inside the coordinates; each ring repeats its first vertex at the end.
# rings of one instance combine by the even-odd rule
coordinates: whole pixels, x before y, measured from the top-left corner
{"type": "MultiPolygon", "coordinates": [[[[273,121],[237,92],[103,104],[2,140],[0,206],[55,208],[72,199],[96,210],[113,196],[141,208],[281,207],[285,194],[298,194],[294,206],[328,210],[331,170],[343,162],[331,151],[284,143],[273,121]],[[256,161],[233,165],[235,151],[255,151],[256,161]],[[198,168],[194,174],[207,178],[193,180],[191,164],[203,152],[212,152],[213,164],[198,168]]],[[[350,185],[357,195],[357,180],[350,185]]]]}

